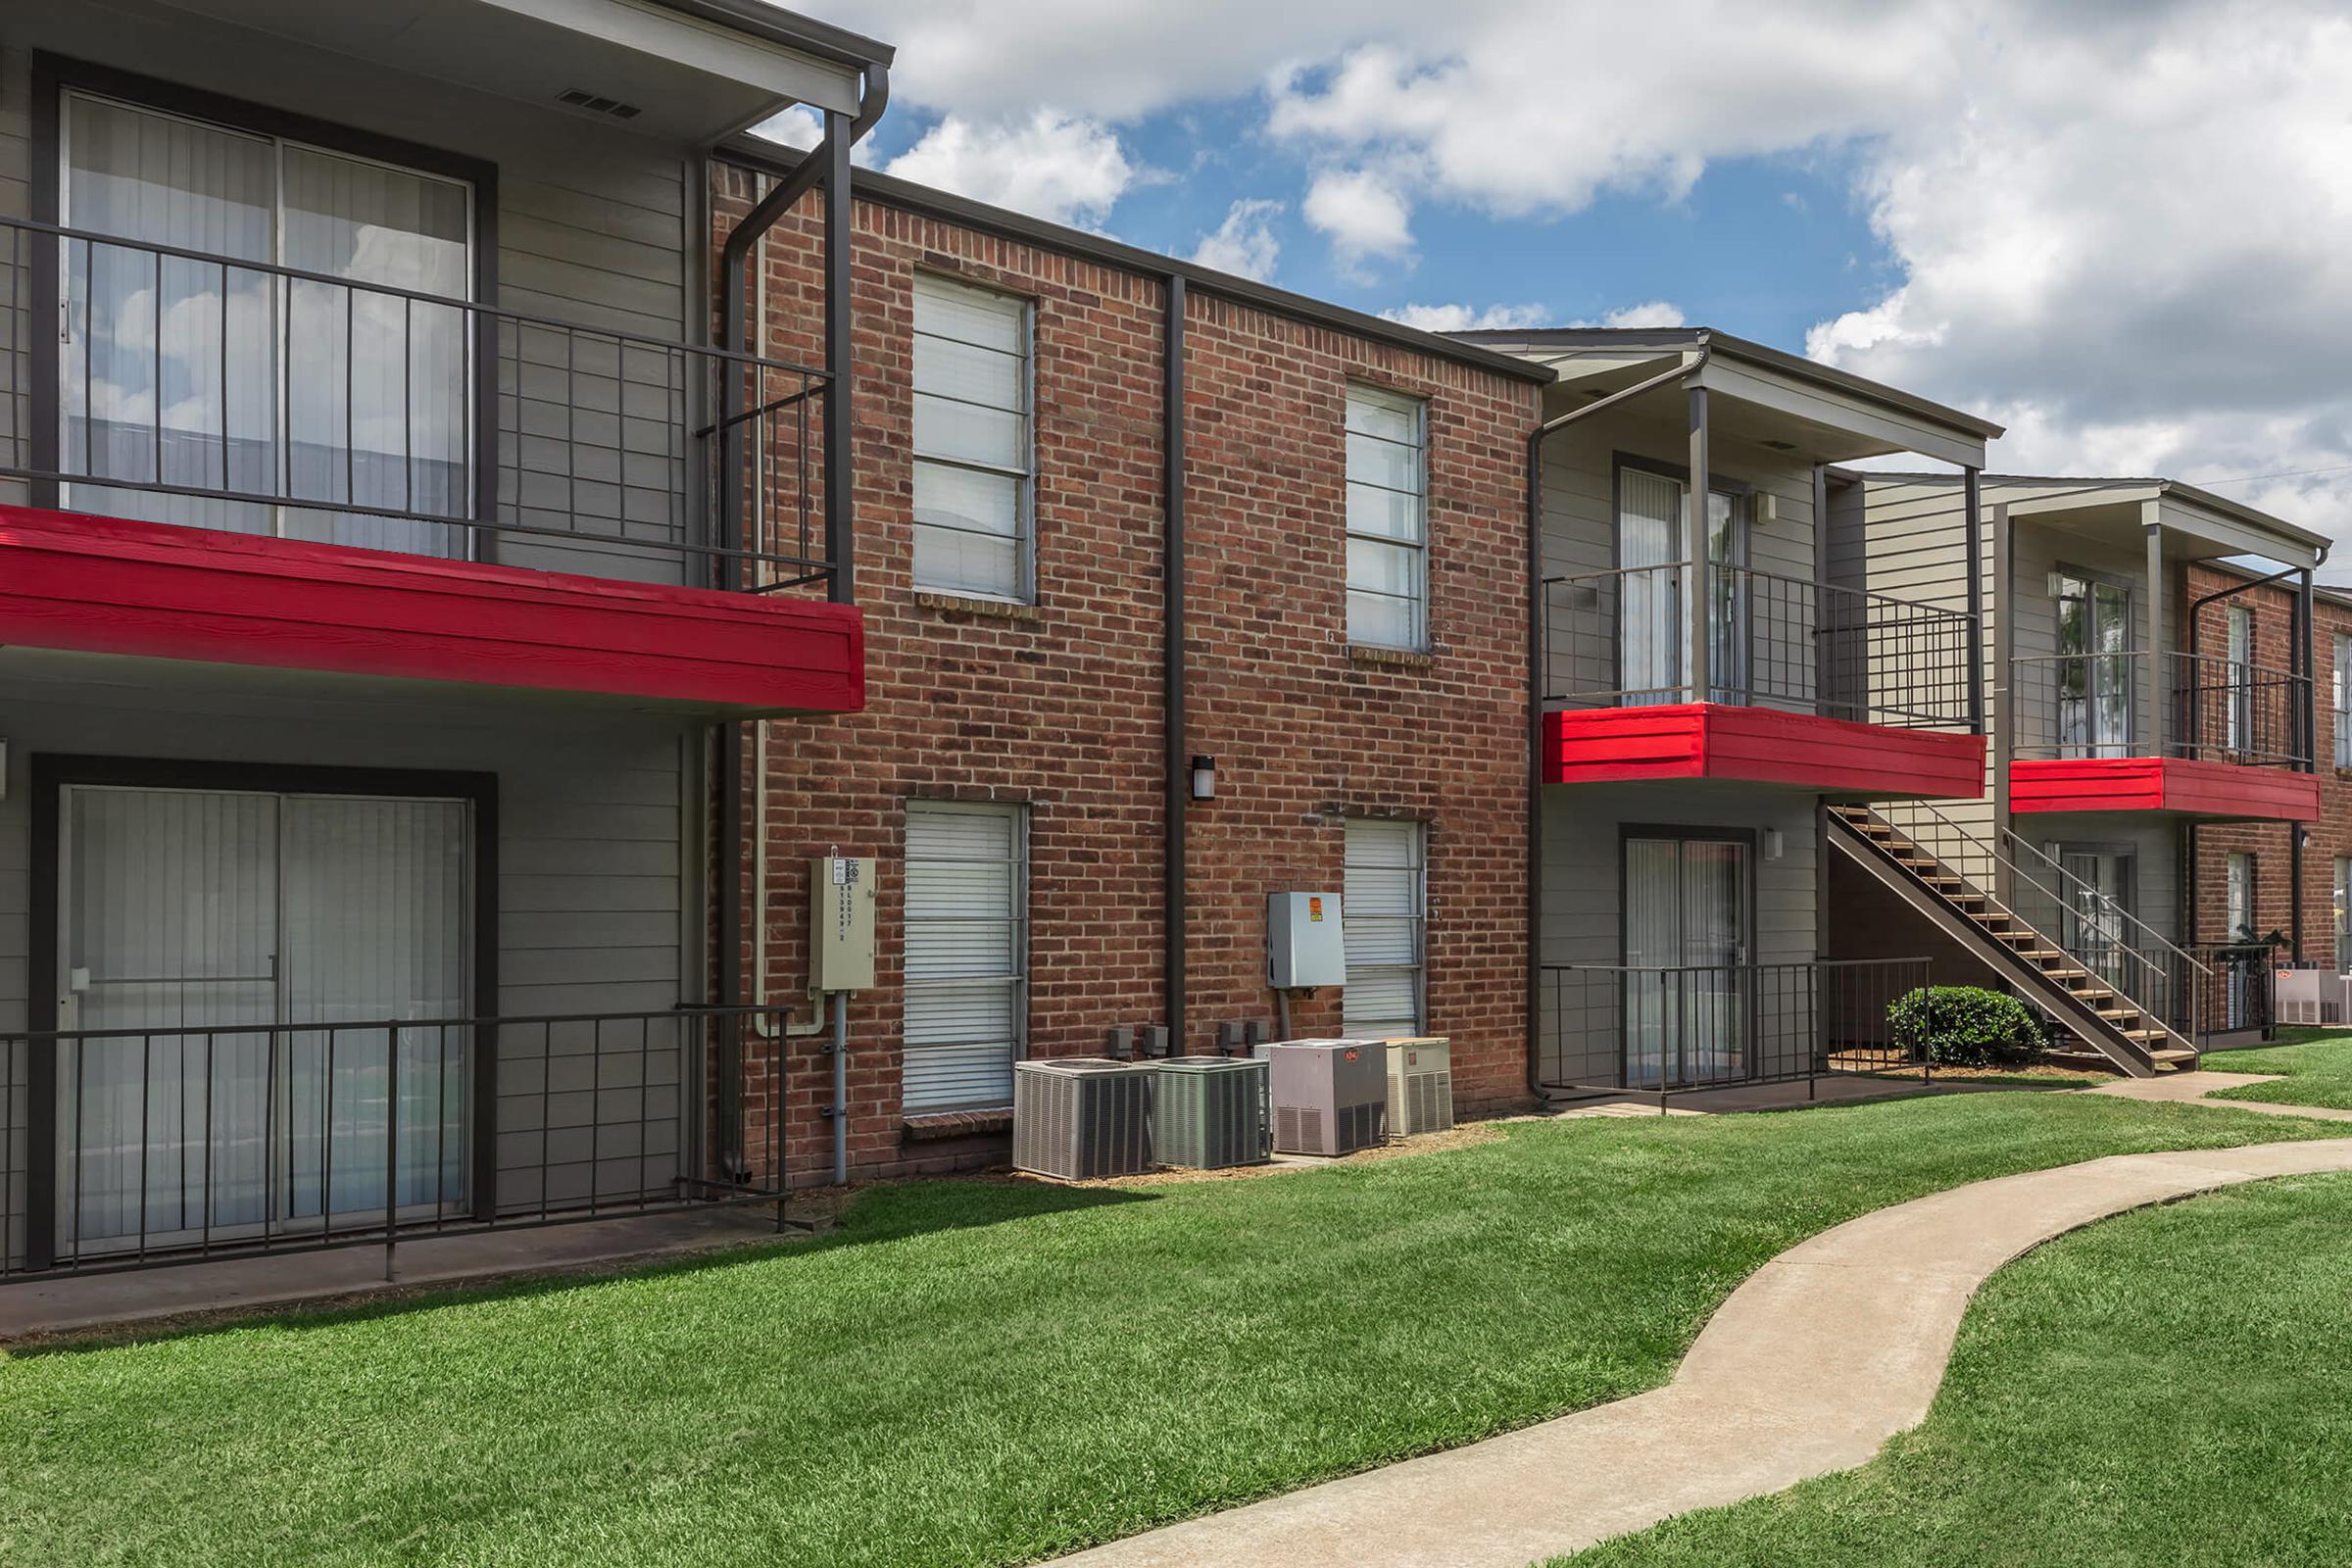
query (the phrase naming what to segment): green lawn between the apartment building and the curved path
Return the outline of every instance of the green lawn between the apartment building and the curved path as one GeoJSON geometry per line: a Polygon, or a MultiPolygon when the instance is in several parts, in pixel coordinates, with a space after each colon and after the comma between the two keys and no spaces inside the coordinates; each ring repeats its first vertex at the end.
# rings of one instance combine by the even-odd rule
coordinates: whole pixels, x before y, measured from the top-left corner
{"type": "Polygon", "coordinates": [[[1976,1093],[884,1187],[727,1262],[0,1361],[0,1561],[1018,1563],[1653,1387],[1884,1204],[2328,1133],[1976,1093]]]}

